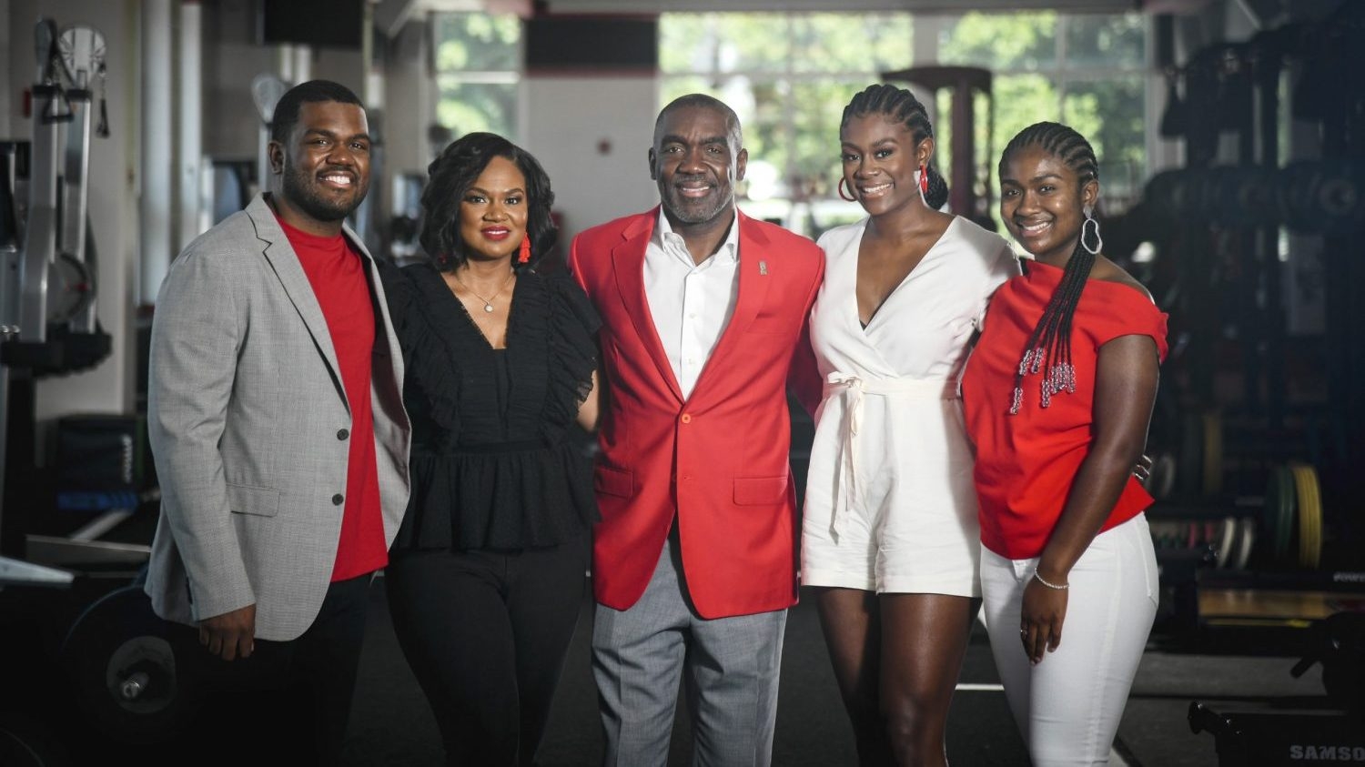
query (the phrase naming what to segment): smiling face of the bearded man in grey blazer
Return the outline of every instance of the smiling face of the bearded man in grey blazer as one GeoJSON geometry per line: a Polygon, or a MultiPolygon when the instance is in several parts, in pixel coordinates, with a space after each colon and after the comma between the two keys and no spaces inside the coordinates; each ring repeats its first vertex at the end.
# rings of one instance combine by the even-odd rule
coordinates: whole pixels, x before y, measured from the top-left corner
{"type": "Polygon", "coordinates": [[[370,188],[370,127],[356,104],[302,104],[288,146],[270,142],[269,153],[280,216],[300,229],[340,229],[370,188]]]}

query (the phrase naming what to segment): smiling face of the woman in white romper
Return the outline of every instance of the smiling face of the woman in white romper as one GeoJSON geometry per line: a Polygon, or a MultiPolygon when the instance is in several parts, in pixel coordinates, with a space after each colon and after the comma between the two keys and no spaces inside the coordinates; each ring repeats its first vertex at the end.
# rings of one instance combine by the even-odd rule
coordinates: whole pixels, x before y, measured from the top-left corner
{"type": "Polygon", "coordinates": [[[932,138],[916,146],[905,123],[885,115],[860,115],[839,130],[839,147],[844,182],[868,214],[923,205],[915,172],[934,153],[932,138]]]}

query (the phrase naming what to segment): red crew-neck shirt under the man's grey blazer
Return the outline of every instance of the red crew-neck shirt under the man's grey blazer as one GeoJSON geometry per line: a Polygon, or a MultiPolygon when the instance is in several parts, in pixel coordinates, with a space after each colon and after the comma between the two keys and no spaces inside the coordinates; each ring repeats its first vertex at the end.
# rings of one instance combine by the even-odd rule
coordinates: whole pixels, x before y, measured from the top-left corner
{"type": "Polygon", "coordinates": [[[344,235],[319,237],[283,220],[280,227],[298,254],[318,306],[322,307],[322,317],[328,321],[332,347],[337,353],[337,373],[351,405],[351,423],[339,423],[336,433],[321,437],[345,438],[349,445],[341,536],[332,569],[332,581],[336,583],[389,564],[379,505],[379,472],[375,465],[374,414],[370,409],[374,298],[364,257],[344,235]]]}

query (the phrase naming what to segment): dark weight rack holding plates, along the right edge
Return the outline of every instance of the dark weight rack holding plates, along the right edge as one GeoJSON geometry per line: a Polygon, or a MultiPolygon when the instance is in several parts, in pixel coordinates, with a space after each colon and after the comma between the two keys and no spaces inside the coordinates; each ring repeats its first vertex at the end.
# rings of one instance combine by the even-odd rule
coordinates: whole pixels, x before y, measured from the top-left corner
{"type": "Polygon", "coordinates": [[[1173,353],[1167,364],[1183,381],[1186,408],[1160,446],[1178,456],[1166,461],[1175,478],[1149,510],[1163,607],[1174,603],[1167,632],[1211,652],[1302,656],[1295,677],[1320,662],[1327,692],[1324,704],[1192,703],[1190,729],[1218,738],[1220,764],[1365,753],[1365,561],[1350,509],[1365,480],[1365,355],[1351,295],[1362,278],[1365,89],[1343,75],[1365,64],[1362,11],[1345,3],[1313,23],[1207,46],[1173,70],[1162,132],[1185,141],[1188,167],[1158,173],[1144,194],[1156,227],[1171,232],[1160,258],[1174,262],[1179,284],[1173,333],[1189,336],[1183,359],[1173,353]],[[1290,100],[1286,74],[1295,75],[1290,100]],[[1289,119],[1313,126],[1320,158],[1284,162],[1289,119]],[[1219,149],[1234,149],[1220,147],[1224,138],[1235,151],[1220,158],[1219,149]],[[1304,240],[1306,252],[1280,259],[1282,242],[1304,240]],[[1284,285],[1319,243],[1325,333],[1294,340],[1284,285]],[[1237,353],[1219,360],[1227,329],[1235,343],[1224,349],[1237,353]],[[1305,385],[1314,382],[1305,370],[1319,367],[1325,386],[1305,385]],[[1239,386],[1216,390],[1219,374],[1239,386]],[[1228,394],[1241,403],[1212,409],[1228,394]]]}

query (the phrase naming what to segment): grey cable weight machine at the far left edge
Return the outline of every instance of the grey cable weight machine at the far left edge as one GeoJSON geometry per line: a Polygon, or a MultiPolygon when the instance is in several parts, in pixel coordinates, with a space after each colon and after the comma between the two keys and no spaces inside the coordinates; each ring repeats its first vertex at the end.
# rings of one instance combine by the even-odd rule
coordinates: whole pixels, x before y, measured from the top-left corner
{"type": "MultiPolygon", "coordinates": [[[[87,177],[97,91],[94,131],[109,134],[104,35],[42,19],[34,49],[33,139],[0,153],[0,472],[31,454],[34,381],[90,368],[112,345],[96,317],[87,177]]],[[[25,561],[26,500],[10,479],[0,474],[0,584],[70,585],[72,573],[25,561]]]]}

